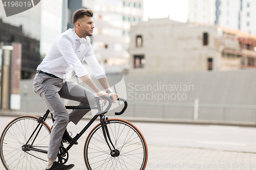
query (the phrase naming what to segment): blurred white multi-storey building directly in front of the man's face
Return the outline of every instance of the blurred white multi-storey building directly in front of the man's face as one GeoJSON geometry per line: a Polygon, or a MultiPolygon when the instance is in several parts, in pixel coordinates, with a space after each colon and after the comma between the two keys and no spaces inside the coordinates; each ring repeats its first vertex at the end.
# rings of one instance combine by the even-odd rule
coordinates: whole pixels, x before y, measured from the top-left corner
{"type": "Polygon", "coordinates": [[[130,28],[143,21],[143,0],[83,0],[82,6],[94,11],[92,46],[105,69],[129,65],[130,28]]]}

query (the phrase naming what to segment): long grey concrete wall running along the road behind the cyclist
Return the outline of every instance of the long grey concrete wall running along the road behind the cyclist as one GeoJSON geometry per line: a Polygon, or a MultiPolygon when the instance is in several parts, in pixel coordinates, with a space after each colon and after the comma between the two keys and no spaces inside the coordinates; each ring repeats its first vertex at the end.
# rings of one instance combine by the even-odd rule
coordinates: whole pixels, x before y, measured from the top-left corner
{"type": "MultiPolygon", "coordinates": [[[[194,103],[198,98],[199,120],[256,123],[255,75],[255,69],[125,75],[129,107],[123,116],[193,120],[194,103]]],[[[20,83],[20,112],[44,113],[45,104],[32,89],[32,80],[20,83]]],[[[76,105],[76,102],[69,104],[76,105]]],[[[114,109],[108,114],[113,115],[120,109],[114,109]]]]}

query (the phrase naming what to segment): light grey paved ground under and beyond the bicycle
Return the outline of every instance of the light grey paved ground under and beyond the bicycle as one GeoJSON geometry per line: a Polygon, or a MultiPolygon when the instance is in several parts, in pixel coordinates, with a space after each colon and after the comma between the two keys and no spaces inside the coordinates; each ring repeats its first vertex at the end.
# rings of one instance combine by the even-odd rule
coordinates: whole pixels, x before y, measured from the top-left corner
{"type": "MultiPolygon", "coordinates": [[[[14,117],[0,117],[0,131],[14,117]]],[[[50,122],[47,122],[51,125],[50,122]]],[[[68,130],[78,133],[88,120],[68,130]]],[[[148,145],[146,169],[256,169],[256,128],[134,123],[148,145]]],[[[69,152],[73,169],[86,169],[83,145],[86,134],[69,152]]],[[[4,169],[0,165],[0,170],[4,169]]]]}

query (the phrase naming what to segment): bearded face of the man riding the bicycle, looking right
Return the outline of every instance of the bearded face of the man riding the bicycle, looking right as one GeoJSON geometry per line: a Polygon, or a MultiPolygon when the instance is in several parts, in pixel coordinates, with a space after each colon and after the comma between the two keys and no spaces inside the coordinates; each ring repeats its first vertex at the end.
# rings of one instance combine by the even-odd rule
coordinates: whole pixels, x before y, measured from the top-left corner
{"type": "Polygon", "coordinates": [[[93,17],[84,15],[84,18],[80,21],[82,37],[92,36],[94,29],[93,17]]]}

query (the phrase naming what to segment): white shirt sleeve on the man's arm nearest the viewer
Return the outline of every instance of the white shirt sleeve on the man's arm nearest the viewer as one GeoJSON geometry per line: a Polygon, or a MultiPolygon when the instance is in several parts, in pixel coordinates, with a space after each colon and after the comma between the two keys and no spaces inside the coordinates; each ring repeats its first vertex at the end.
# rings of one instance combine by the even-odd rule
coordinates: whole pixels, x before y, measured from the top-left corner
{"type": "Polygon", "coordinates": [[[62,36],[57,41],[57,49],[62,54],[63,58],[75,71],[76,76],[82,77],[89,74],[87,69],[82,65],[73,49],[72,40],[67,36],[62,36]]]}

